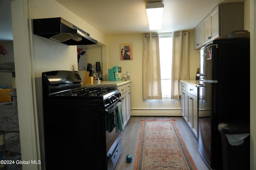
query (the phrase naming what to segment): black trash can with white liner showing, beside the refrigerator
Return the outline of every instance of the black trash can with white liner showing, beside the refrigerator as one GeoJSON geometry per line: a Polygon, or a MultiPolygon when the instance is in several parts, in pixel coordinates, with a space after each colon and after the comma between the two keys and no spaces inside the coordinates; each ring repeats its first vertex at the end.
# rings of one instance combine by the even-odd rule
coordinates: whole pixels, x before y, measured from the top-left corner
{"type": "Polygon", "coordinates": [[[218,124],[222,143],[223,170],[250,169],[250,120],[228,120],[218,124]]]}

